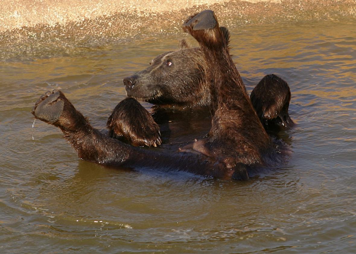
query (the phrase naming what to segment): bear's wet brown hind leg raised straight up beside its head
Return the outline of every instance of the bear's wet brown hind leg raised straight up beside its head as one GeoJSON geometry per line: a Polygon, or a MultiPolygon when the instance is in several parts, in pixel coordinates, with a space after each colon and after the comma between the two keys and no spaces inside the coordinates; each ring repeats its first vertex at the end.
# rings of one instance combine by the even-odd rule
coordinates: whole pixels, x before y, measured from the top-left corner
{"type": "Polygon", "coordinates": [[[204,146],[210,157],[224,162],[229,169],[239,163],[263,164],[263,154],[271,149],[272,143],[252,107],[218,22],[214,28],[194,30],[205,15],[216,20],[215,14],[206,11],[189,18],[183,26],[199,42],[208,64],[207,79],[218,92],[211,130],[199,146],[204,146]]]}

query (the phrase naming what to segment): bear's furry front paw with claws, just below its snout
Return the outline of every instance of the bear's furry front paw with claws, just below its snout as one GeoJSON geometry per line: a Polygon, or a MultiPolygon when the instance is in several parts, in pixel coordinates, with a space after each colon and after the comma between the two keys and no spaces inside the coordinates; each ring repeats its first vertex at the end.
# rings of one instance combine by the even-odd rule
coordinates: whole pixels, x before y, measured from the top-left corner
{"type": "Polygon", "coordinates": [[[135,146],[157,147],[162,143],[158,124],[133,98],[126,98],[115,107],[106,126],[111,137],[135,146]]]}

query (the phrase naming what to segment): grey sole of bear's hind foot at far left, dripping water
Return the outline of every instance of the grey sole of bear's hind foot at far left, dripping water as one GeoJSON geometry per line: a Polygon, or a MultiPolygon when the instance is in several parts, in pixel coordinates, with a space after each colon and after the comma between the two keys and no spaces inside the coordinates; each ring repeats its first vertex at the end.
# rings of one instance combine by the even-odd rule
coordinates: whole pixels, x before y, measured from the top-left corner
{"type": "Polygon", "coordinates": [[[31,113],[41,121],[54,123],[62,115],[66,100],[66,96],[59,90],[47,91],[36,101],[31,113]]]}

